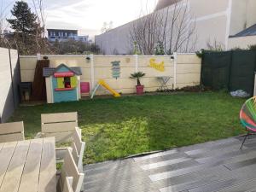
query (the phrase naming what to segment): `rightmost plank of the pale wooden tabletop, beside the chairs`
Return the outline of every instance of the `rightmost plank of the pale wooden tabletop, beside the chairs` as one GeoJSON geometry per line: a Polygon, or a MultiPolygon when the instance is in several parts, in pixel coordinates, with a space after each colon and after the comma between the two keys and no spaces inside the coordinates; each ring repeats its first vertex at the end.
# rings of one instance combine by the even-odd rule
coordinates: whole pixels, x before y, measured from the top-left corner
{"type": "Polygon", "coordinates": [[[56,191],[55,138],[45,137],[39,173],[38,192],[56,191]]]}

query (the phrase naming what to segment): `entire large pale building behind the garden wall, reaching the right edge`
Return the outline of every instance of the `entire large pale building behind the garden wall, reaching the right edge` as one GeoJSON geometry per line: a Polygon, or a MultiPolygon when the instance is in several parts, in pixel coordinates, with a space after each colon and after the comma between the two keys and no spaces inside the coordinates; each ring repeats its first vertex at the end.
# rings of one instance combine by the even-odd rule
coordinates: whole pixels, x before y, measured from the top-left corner
{"type": "MultiPolygon", "coordinates": [[[[166,9],[174,9],[176,2],[184,3],[187,0],[160,0],[155,11],[165,14],[166,9]]],[[[255,0],[188,0],[188,9],[193,15],[190,22],[195,23],[196,27],[195,50],[207,49],[209,44],[216,43],[229,49],[231,36],[256,23],[255,0]]],[[[168,18],[172,20],[172,12],[168,18]]],[[[135,21],[96,36],[96,44],[107,55],[131,54],[133,47],[130,32],[135,21]]]]}

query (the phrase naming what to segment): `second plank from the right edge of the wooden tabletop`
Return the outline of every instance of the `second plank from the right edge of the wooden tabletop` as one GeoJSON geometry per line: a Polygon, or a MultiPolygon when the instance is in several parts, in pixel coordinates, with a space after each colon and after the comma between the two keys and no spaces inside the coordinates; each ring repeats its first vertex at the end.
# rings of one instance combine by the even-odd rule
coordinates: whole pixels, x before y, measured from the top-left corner
{"type": "Polygon", "coordinates": [[[30,148],[26,158],[26,165],[24,167],[20,181],[19,192],[38,191],[38,177],[42,148],[43,139],[31,140],[30,148]]]}

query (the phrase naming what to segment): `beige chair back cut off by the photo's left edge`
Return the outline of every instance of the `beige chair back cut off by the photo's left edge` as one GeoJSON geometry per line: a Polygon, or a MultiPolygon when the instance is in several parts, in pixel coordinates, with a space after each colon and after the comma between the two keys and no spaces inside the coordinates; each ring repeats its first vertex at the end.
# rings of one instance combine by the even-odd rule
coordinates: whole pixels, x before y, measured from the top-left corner
{"type": "Polygon", "coordinates": [[[24,140],[23,121],[0,124],[0,143],[24,140]]]}

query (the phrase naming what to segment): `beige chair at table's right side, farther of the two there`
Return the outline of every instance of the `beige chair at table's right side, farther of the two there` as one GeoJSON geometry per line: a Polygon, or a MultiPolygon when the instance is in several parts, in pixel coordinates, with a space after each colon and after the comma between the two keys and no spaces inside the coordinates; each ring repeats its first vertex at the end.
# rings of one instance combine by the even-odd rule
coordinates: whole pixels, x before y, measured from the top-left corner
{"type": "MultiPolygon", "coordinates": [[[[79,167],[79,172],[83,172],[83,156],[84,156],[85,142],[82,141],[82,133],[79,127],[75,128],[73,133],[73,142],[71,144],[71,150],[73,159],[76,165],[79,167]]],[[[56,160],[62,162],[64,160],[67,148],[56,148],[56,160]]]]}

